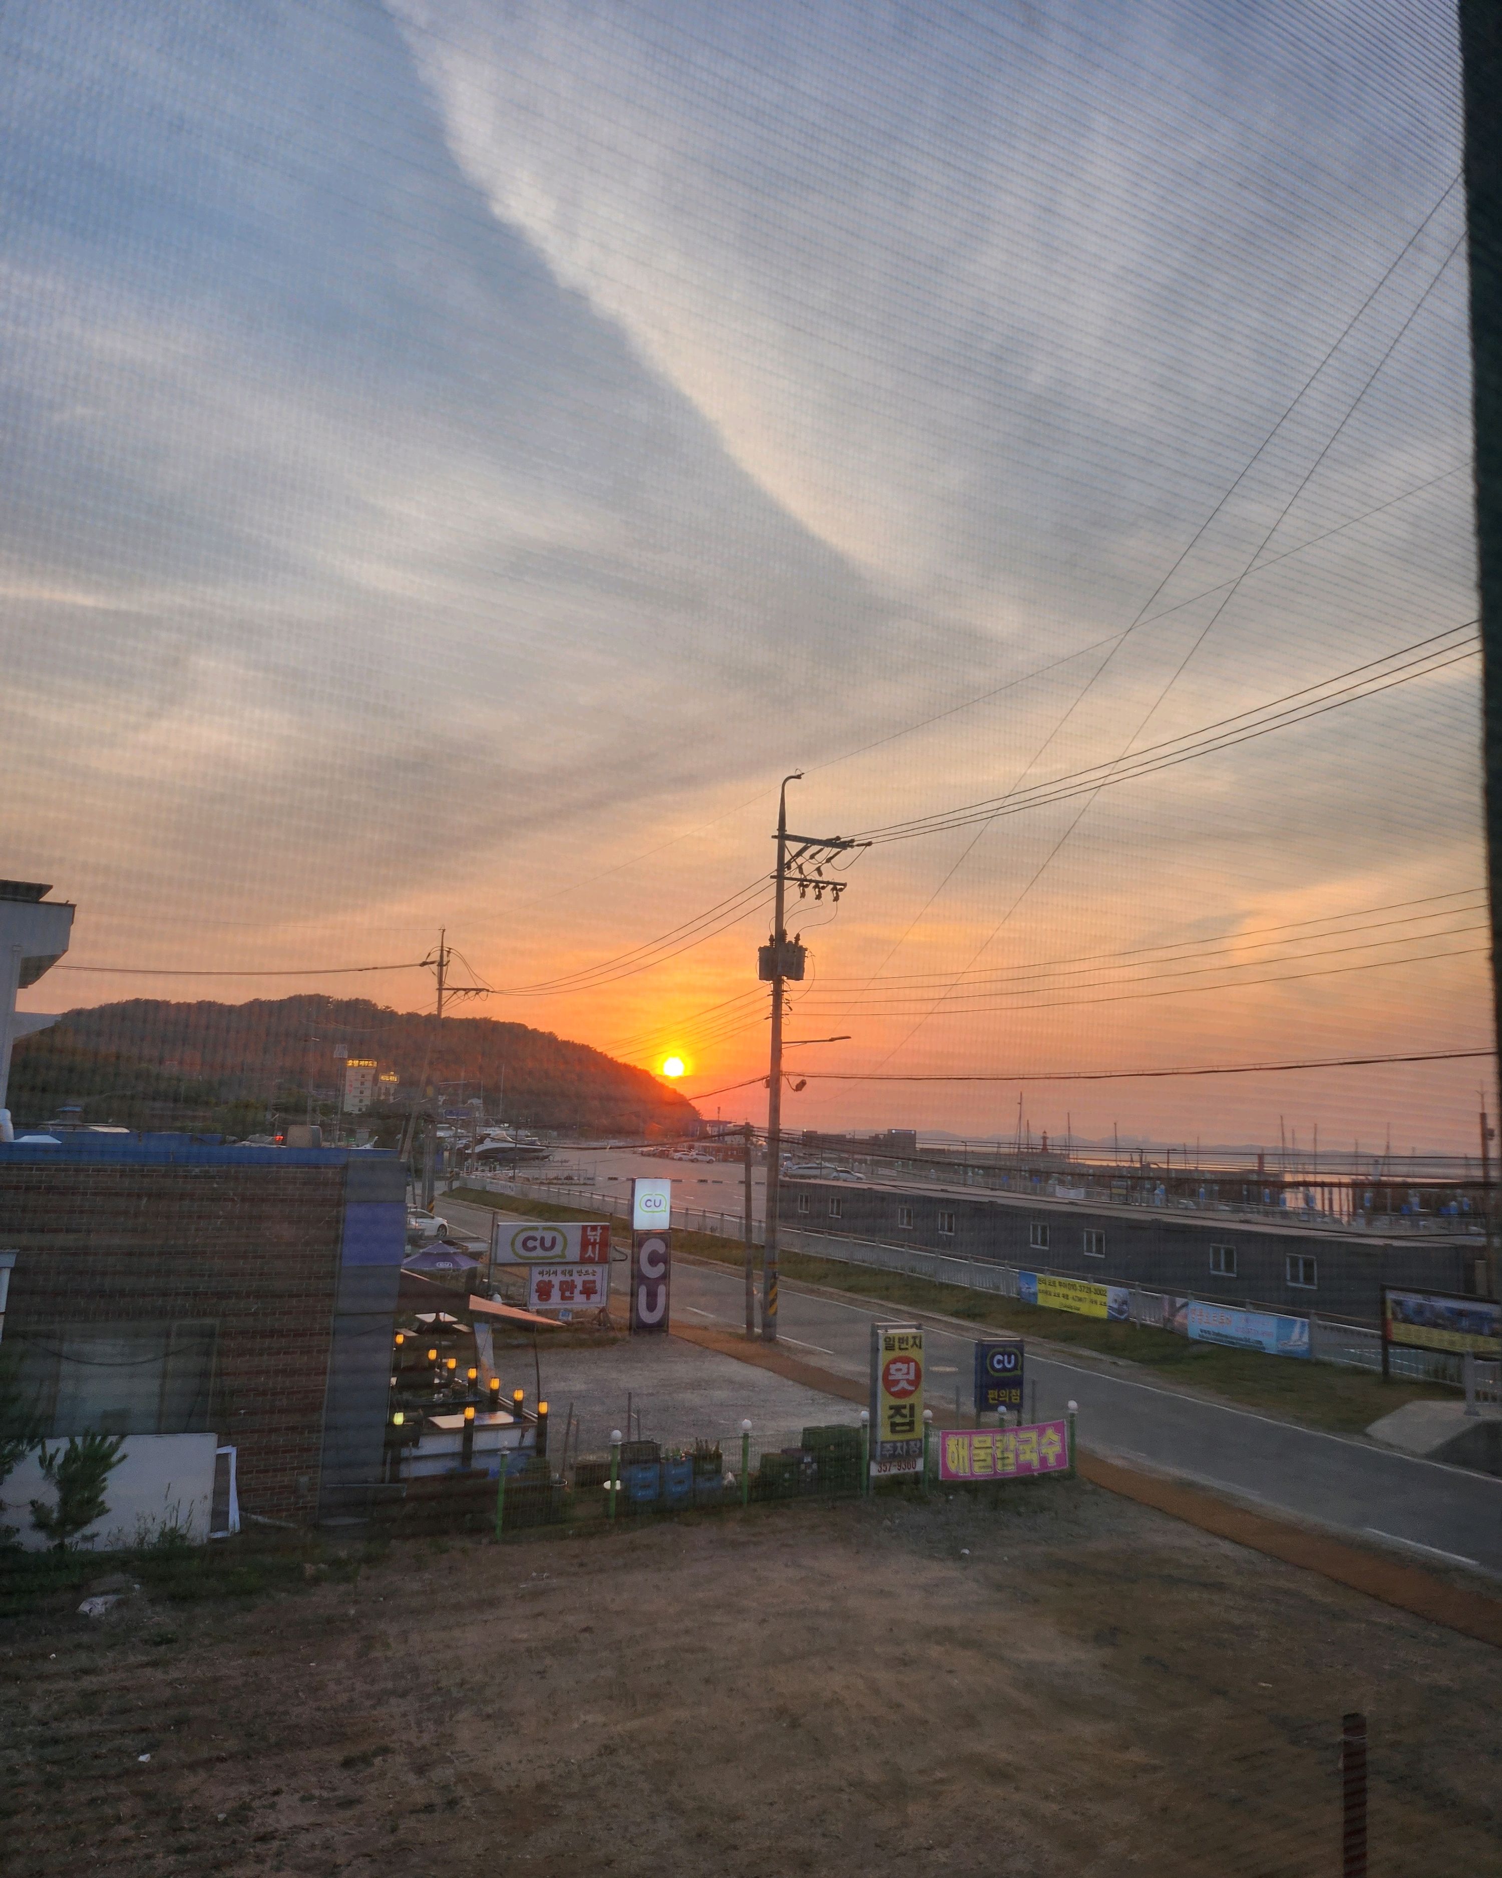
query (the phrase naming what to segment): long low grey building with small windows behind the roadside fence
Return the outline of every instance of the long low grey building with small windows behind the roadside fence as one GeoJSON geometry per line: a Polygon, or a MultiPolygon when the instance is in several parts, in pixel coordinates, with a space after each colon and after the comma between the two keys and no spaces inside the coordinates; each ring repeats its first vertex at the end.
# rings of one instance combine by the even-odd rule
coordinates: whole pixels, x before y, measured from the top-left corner
{"type": "Polygon", "coordinates": [[[1485,1285],[1485,1243],[1463,1230],[1389,1236],[1230,1211],[790,1176],[783,1221],[800,1232],[1356,1324],[1378,1322],[1384,1285],[1461,1294],[1485,1285]]]}

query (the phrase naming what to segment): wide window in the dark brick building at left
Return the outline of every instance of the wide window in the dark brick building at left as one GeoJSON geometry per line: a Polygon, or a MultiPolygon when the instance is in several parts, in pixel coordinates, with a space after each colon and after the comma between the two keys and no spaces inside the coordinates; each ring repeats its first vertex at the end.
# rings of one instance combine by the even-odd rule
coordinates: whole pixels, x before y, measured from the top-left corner
{"type": "Polygon", "coordinates": [[[39,1324],[17,1341],[23,1386],[51,1437],[214,1427],[212,1322],[39,1324]]]}

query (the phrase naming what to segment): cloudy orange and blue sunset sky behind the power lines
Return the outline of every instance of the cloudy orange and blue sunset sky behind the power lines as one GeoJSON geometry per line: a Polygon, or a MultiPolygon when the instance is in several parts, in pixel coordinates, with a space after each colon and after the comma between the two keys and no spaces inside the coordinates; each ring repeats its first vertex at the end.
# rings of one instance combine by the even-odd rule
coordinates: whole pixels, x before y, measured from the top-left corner
{"type": "MultiPolygon", "coordinates": [[[[417,1008],[327,967],[447,926],[467,1010],[728,1089],[802,768],[796,830],[986,808],[794,907],[789,1035],[851,1033],[800,1072],[1489,1040],[1449,6],[13,0],[0,47],[0,873],[79,905],[28,1008],[417,1008]]],[[[1023,1112],[1468,1151],[1479,1070],[1023,1112]]]]}

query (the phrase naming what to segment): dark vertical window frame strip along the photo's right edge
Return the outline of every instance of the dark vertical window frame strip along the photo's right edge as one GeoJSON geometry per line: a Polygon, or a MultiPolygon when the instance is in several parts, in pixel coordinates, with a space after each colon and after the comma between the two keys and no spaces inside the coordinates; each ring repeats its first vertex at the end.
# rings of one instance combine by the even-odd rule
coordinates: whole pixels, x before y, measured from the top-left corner
{"type": "MultiPolygon", "coordinates": [[[[1459,19],[1481,597],[1481,768],[1493,1025],[1502,1044],[1502,11],[1489,0],[1461,0],[1459,19]]],[[[1502,1298],[1500,1238],[1496,1209],[1487,1204],[1487,1288],[1493,1298],[1502,1298]]]]}

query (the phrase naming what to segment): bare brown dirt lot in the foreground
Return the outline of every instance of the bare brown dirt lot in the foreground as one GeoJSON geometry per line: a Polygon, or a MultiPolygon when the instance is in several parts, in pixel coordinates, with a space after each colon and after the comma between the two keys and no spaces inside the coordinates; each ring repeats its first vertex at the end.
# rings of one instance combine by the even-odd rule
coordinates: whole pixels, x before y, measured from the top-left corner
{"type": "Polygon", "coordinates": [[[1346,1709],[1374,1878],[1502,1852],[1502,1653],[1085,1482],[77,1596],[0,1630],[9,1878],[1312,1878],[1346,1709]]]}

